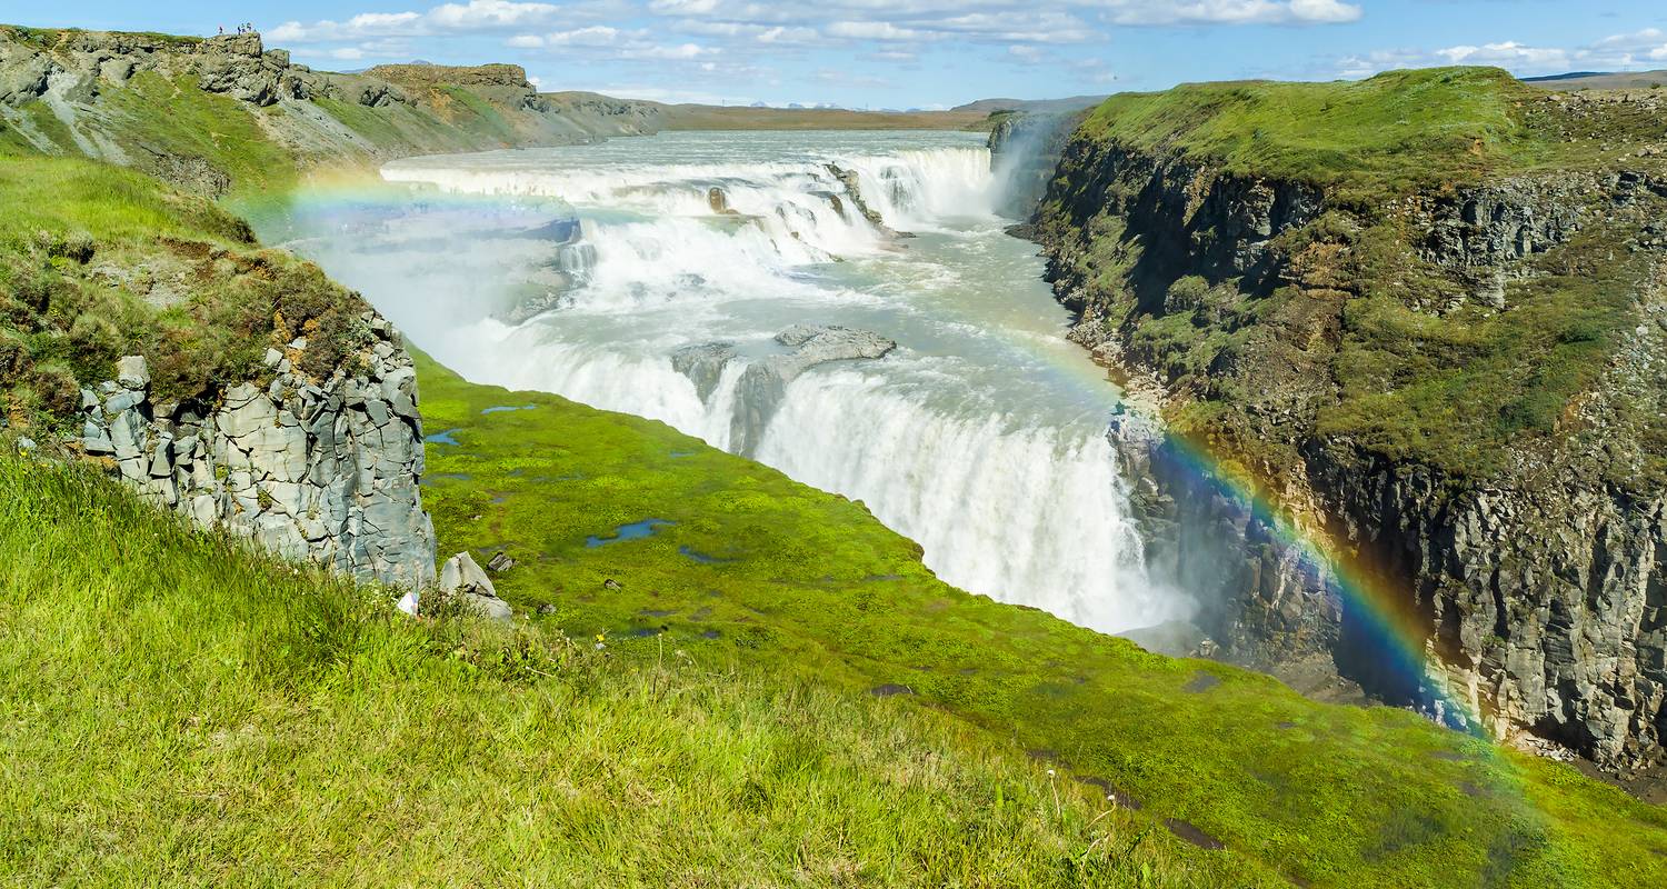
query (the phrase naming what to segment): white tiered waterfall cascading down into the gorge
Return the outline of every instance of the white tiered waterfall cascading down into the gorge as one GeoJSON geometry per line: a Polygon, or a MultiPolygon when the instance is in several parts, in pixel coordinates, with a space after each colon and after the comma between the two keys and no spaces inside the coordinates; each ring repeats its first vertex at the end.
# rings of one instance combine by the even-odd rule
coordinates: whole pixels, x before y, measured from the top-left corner
{"type": "MultiPolygon", "coordinates": [[[[423,300],[355,280],[467,377],[658,419],[717,447],[752,409],[765,414],[752,455],[862,499],[955,585],[1102,630],[1187,614],[1140,565],[1104,435],[1115,390],[1062,340],[1034,249],[1002,234],[977,137],[667,133],[417,158],[383,175],[510,205],[555,197],[577,212],[580,242],[550,259],[575,284],[525,324],[450,324],[425,342],[432,312],[403,315],[423,300]],[[919,237],[887,237],[859,200],[919,237]],[[782,354],[773,337],[795,324],[874,330],[899,349],[812,367],[778,404],[748,404],[745,367],[782,354]],[[672,354],[715,342],[735,357],[702,399],[672,354]]],[[[468,270],[457,274],[475,287],[505,257],[500,279],[533,280],[527,242],[493,232],[460,247],[468,270]]]]}

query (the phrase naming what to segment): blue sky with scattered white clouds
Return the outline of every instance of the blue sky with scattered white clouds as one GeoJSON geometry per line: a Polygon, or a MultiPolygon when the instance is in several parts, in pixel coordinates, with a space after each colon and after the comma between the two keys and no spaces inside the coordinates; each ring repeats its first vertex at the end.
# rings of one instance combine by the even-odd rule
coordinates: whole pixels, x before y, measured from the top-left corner
{"type": "Polygon", "coordinates": [[[1452,63],[1667,68],[1667,0],[0,0],[0,22],[252,22],[325,70],[513,62],[542,90],[852,108],[1452,63]]]}

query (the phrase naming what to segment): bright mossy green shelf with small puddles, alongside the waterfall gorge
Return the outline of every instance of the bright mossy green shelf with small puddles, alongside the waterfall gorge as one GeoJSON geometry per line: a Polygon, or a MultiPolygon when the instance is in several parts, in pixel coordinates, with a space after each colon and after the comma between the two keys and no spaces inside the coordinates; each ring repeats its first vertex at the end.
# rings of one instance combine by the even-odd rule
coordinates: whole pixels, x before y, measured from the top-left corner
{"type": "Polygon", "coordinates": [[[1667,876],[1667,812],[1567,767],[964,594],[860,505],[665,425],[472,385],[428,360],[420,379],[428,430],[458,442],[428,447],[425,504],[442,550],[507,550],[518,564],[500,592],[553,605],[540,622],[620,650],[675,647],[857,691],[907,686],[922,704],[1112,782],[1155,817],[1222,837],[1265,876],[1319,886],[1667,876]],[[513,405],[533,407],[483,414],[513,405]],[[587,545],[645,519],[675,524],[587,545]],[[1189,691],[1200,676],[1219,684],[1189,691]]]}

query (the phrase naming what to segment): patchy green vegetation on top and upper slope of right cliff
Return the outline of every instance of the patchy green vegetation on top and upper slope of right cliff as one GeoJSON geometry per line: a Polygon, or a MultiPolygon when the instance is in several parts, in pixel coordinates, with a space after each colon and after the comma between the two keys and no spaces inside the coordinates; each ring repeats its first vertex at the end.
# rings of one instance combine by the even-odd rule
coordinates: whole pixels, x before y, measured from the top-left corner
{"type": "MultiPolygon", "coordinates": [[[[1567,115],[1504,72],[1432,68],[1359,83],[1125,93],[1102,103],[1079,138],[1315,183],[1344,210],[1275,242],[1297,259],[1294,285],[1260,294],[1237,279],[1205,282],[1200,310],[1169,315],[1135,305],[1130,275],[1145,245],[1117,218],[1080,225],[1095,235],[1075,270],[1115,307],[1109,324],[1127,324],[1135,354],[1174,389],[1204,395],[1177,420],[1274,467],[1285,462],[1267,445],[1277,435],[1240,410],[1277,394],[1282,374],[1297,374],[1339,387],[1315,419],[1324,435],[1457,477],[1495,474],[1510,447],[1564,434],[1567,405],[1639,324],[1649,255],[1629,252],[1634,229],[1602,212],[1572,244],[1529,260],[1539,277],[1510,282],[1505,312],[1475,299],[1434,310],[1474,284],[1422,260],[1414,250],[1422,234],[1385,212],[1392,198],[1504,175],[1649,168],[1657,162],[1639,158],[1637,147],[1667,138],[1667,127],[1627,105],[1567,115]],[[1234,370],[1219,372],[1224,365],[1234,370]]],[[[1650,405],[1619,407],[1642,437],[1667,440],[1650,405]]],[[[1642,455],[1647,475],[1667,477],[1662,457],[1642,455]]],[[[1624,465],[1629,475],[1637,464],[1624,465]]]]}

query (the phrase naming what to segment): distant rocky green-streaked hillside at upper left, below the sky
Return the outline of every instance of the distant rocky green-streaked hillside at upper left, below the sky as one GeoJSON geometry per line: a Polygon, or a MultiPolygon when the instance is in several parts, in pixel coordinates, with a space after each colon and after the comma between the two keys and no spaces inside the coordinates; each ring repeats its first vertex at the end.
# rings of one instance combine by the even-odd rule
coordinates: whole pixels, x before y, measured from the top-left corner
{"type": "Polygon", "coordinates": [[[260,35],[0,27],[0,152],[78,153],[198,193],[312,167],[653,132],[653,108],[540,95],[520,67],[315,72],[260,35]],[[215,138],[192,127],[215,127],[215,138]]]}

